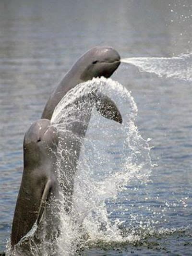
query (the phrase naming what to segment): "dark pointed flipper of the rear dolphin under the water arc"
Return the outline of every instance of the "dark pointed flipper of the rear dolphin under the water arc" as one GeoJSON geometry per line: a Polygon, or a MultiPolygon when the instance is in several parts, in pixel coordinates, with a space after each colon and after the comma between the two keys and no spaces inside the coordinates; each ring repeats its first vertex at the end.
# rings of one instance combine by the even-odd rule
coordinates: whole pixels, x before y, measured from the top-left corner
{"type": "Polygon", "coordinates": [[[116,104],[108,96],[97,94],[96,110],[105,118],[122,123],[122,117],[116,104]]]}

